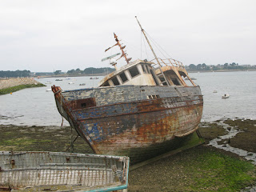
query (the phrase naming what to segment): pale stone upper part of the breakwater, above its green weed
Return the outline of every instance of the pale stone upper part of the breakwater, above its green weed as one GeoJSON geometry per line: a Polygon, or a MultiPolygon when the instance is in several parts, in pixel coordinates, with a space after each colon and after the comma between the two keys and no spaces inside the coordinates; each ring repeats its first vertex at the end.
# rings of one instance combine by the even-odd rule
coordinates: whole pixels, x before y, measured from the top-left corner
{"type": "Polygon", "coordinates": [[[34,78],[8,78],[0,79],[0,90],[6,89],[12,86],[20,85],[38,85],[39,82],[34,80],[34,78]]]}

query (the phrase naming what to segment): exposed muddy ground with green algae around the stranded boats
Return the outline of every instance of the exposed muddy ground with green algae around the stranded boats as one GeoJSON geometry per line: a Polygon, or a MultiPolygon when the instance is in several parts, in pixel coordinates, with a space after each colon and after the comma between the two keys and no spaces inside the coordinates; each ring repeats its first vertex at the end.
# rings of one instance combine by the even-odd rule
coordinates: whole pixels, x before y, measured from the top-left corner
{"type": "MultiPolygon", "coordinates": [[[[230,146],[256,152],[255,120],[227,119],[224,123],[241,130],[229,139],[230,146]]],[[[256,186],[252,163],[207,146],[211,139],[227,134],[229,129],[225,130],[218,122],[201,123],[199,130],[205,144],[130,171],[129,191],[240,191],[246,186],[256,186]]],[[[72,133],[75,138],[74,130],[72,133]]],[[[66,151],[70,135],[70,127],[0,126],[0,150],[66,151]]],[[[92,153],[92,150],[78,138],[74,152],[92,153]]]]}

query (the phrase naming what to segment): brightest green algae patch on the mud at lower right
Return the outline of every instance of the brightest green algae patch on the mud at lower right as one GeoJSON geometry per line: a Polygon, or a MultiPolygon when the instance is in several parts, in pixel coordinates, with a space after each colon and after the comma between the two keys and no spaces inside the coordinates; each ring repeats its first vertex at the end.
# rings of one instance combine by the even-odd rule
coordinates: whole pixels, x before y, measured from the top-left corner
{"type": "Polygon", "coordinates": [[[253,164],[214,151],[199,154],[184,167],[194,176],[190,190],[239,191],[256,180],[253,164]]]}

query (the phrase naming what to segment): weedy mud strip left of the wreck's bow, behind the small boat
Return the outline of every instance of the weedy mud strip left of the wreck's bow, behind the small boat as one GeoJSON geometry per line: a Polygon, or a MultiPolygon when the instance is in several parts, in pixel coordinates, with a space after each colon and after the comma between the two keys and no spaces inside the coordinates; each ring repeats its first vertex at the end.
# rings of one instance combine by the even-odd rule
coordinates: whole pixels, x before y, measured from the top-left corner
{"type": "MultiPolygon", "coordinates": [[[[0,150],[64,152],[70,146],[70,133],[68,126],[0,126],[0,150]]],[[[74,152],[93,153],[82,138],[75,142],[74,152]]]]}

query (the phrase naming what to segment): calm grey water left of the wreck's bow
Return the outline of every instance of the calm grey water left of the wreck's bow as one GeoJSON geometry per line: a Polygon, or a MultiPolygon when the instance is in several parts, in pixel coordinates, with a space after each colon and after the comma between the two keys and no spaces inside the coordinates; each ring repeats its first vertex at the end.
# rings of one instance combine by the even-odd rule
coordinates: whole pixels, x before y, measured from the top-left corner
{"type": "MultiPolygon", "coordinates": [[[[61,126],[62,117],[58,113],[54,93],[46,91],[50,86],[61,86],[62,90],[84,89],[98,86],[98,79],[90,79],[90,77],[76,77],[63,81],[55,81],[56,78],[36,79],[46,86],[18,90],[13,94],[5,94],[0,96],[0,125],[23,125],[23,126],[61,126]],[[51,82],[51,84],[46,84],[51,82]],[[73,82],[74,84],[69,84],[73,82]],[[86,86],[79,84],[86,83],[86,86]]],[[[64,126],[69,123],[64,119],[64,126]]]]}

